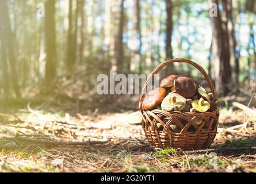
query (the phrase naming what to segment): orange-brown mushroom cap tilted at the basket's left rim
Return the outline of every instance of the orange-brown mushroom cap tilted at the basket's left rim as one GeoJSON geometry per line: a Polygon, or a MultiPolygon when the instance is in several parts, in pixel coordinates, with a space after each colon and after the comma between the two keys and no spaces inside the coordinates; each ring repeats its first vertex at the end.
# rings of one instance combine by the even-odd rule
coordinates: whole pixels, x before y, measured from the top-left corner
{"type": "Polygon", "coordinates": [[[163,101],[163,98],[165,98],[165,93],[166,90],[163,87],[158,87],[148,92],[146,97],[143,99],[142,109],[150,110],[155,108],[158,104],[160,104],[163,101]]]}

